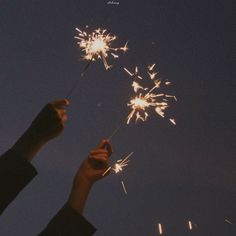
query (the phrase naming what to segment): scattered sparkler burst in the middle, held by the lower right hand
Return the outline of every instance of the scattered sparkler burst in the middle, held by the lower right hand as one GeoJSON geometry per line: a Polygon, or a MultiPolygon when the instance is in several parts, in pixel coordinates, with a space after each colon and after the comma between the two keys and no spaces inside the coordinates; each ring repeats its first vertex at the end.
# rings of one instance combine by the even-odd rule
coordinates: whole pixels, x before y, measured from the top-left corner
{"type": "MultiPolygon", "coordinates": [[[[158,72],[154,71],[155,64],[148,66],[148,78],[151,81],[151,88],[144,87],[141,85],[141,82],[144,81],[144,78],[139,75],[138,67],[135,67],[135,71],[131,72],[127,68],[124,70],[134,79],[132,83],[133,90],[135,92],[135,97],[132,98],[127,104],[131,108],[131,112],[127,117],[127,124],[135,117],[135,122],[141,120],[146,121],[149,114],[148,110],[153,108],[155,112],[161,116],[165,117],[165,110],[169,107],[169,99],[174,99],[177,101],[176,97],[169,94],[160,93],[162,84],[165,86],[170,85],[169,81],[162,82],[160,79],[156,78],[158,72]],[[138,81],[135,81],[138,80],[138,81]]],[[[175,119],[170,118],[169,121],[176,125],[175,119]]]]}

